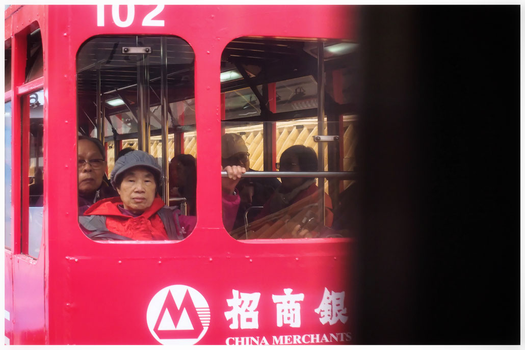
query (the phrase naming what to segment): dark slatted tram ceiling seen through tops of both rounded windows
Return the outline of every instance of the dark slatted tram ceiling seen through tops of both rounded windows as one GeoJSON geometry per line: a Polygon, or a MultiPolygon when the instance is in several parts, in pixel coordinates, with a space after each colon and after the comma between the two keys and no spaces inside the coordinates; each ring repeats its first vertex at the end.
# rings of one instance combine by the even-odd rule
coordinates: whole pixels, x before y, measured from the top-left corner
{"type": "MultiPolygon", "coordinates": [[[[97,37],[95,39],[98,40],[89,42],[81,48],[82,55],[79,56],[77,68],[79,91],[92,90],[97,86],[97,68],[103,72],[100,81],[103,93],[108,93],[114,89],[121,90],[136,84],[137,62],[139,60],[131,57],[136,55],[123,54],[121,48],[137,45],[134,44],[134,41],[138,41],[139,45],[145,45],[143,42],[145,43],[146,39],[151,41],[147,44],[152,46],[152,52],[148,55],[151,81],[159,79],[161,69],[160,44],[153,41],[153,39],[158,38],[148,37],[142,40],[142,38],[127,37],[127,40],[123,40],[122,37],[118,37],[118,43],[115,43],[115,38],[111,37],[97,37]]],[[[185,43],[182,39],[178,39],[178,41],[185,43]]],[[[231,66],[235,68],[235,64],[242,63],[261,67],[261,76],[258,75],[257,79],[251,78],[254,79],[254,84],[276,82],[283,80],[283,78],[291,79],[301,75],[315,76],[317,59],[304,51],[303,45],[303,41],[293,40],[258,38],[234,40],[224,49],[222,66],[226,68],[227,63],[231,63],[231,66]]],[[[177,81],[193,81],[193,68],[182,69],[184,64],[191,63],[194,60],[194,54],[189,45],[167,45],[167,57],[168,82],[170,84],[177,83],[177,81]],[[181,66],[180,70],[176,69],[177,65],[181,66]]],[[[325,66],[330,69],[338,61],[348,65],[348,57],[345,57],[344,60],[329,60],[325,66]]],[[[246,86],[248,86],[246,82],[226,82],[223,83],[222,89],[228,91],[228,89],[246,86]]]]}

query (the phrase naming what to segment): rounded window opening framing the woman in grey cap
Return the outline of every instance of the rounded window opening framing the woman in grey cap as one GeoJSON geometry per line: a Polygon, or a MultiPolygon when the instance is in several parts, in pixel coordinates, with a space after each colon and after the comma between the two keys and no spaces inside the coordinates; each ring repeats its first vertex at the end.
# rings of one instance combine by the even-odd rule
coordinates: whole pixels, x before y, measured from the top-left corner
{"type": "Polygon", "coordinates": [[[182,240],[196,224],[195,55],[173,36],[77,54],[78,207],[94,240],[182,240]]]}

